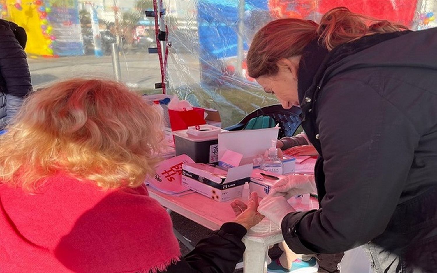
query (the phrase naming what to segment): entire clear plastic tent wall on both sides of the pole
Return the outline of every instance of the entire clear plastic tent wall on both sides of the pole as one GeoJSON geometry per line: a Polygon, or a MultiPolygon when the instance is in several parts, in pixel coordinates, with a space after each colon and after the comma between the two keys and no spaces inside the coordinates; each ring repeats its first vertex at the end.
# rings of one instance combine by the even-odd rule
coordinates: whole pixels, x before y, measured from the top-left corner
{"type": "MultiPolygon", "coordinates": [[[[158,2],[160,0],[157,0],[158,2]]],[[[220,111],[223,126],[256,108],[276,104],[246,74],[246,52],[270,20],[318,21],[345,6],[357,13],[434,27],[435,0],[163,0],[168,25],[168,93],[220,111]]],[[[0,0],[0,17],[24,27],[34,88],[72,77],[104,77],[157,94],[161,82],[153,0],[0,0]],[[120,52],[113,60],[111,52],[120,52]]]]}

